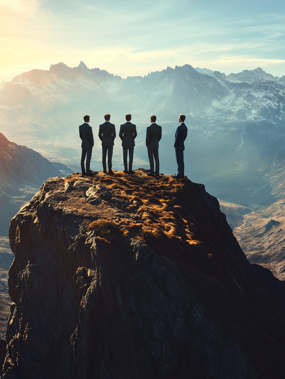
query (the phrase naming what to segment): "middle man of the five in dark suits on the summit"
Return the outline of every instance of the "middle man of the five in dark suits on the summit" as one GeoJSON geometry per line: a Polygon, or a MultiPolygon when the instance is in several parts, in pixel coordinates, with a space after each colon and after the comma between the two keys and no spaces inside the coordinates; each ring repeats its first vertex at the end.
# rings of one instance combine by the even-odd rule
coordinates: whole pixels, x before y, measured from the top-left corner
{"type": "Polygon", "coordinates": [[[131,114],[126,114],[126,123],[121,125],[119,137],[122,140],[123,146],[123,159],[125,166],[125,174],[133,174],[132,159],[134,157],[135,137],[137,136],[137,129],[135,124],[131,123],[131,114]],[[129,150],[129,171],[128,171],[128,150],[129,150]]]}

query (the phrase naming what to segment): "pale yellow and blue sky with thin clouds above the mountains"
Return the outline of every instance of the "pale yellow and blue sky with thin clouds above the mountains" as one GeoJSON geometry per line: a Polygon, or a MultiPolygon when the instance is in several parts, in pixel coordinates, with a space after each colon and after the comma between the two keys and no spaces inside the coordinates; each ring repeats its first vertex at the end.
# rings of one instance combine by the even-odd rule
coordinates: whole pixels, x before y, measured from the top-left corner
{"type": "Polygon", "coordinates": [[[0,81],[63,62],[122,77],[191,64],[285,75],[284,0],[0,0],[0,81]]]}

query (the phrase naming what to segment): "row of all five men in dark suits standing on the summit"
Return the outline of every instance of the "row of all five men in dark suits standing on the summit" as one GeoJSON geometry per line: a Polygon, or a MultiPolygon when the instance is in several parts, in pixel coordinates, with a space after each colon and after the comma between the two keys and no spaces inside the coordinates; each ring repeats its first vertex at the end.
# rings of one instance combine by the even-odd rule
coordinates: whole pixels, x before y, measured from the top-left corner
{"type": "MultiPolygon", "coordinates": [[[[184,124],[185,115],[179,115],[180,125],[176,129],[174,137],[174,148],[176,154],[176,161],[178,164],[178,174],[173,175],[175,179],[184,178],[184,141],[187,137],[187,127],[184,124]]],[[[90,170],[90,160],[92,155],[92,148],[94,146],[94,139],[92,133],[92,127],[89,125],[90,117],[88,115],[83,117],[84,124],[79,126],[79,136],[82,139],[82,155],[81,155],[81,171],[82,175],[92,176],[93,172],[90,170]],[[86,158],[86,170],[84,167],[84,161],[86,158]]],[[[107,174],[107,164],[108,162],[108,173],[113,175],[112,171],[112,155],[114,139],[116,138],[115,125],[111,124],[111,115],[106,113],[104,116],[105,122],[99,127],[98,136],[102,141],[102,163],[103,172],[107,174]]],[[[123,161],[124,161],[124,172],[125,174],[134,174],[132,171],[132,161],[134,157],[134,146],[135,138],[137,136],[136,125],[131,122],[131,114],[126,114],[126,122],[120,127],[119,136],[122,141],[123,147],[123,161]],[[129,166],[128,166],[128,152],[129,152],[129,166]]],[[[150,126],[146,128],[146,146],[148,148],[148,159],[150,161],[150,172],[146,175],[148,176],[159,176],[159,141],[162,136],[162,127],[156,124],[156,116],[152,114],[150,116],[150,126]],[[154,161],[155,161],[155,171],[154,171],[154,161]]]]}

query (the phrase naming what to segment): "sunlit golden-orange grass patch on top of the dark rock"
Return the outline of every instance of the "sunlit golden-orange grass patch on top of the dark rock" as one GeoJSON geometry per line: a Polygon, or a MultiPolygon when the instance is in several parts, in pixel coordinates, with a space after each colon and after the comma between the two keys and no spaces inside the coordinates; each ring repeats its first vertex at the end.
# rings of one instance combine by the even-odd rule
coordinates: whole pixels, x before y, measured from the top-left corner
{"type": "Polygon", "coordinates": [[[111,230],[113,232],[117,230],[115,234],[120,230],[121,235],[129,234],[140,240],[161,239],[165,236],[183,239],[191,245],[201,243],[193,238],[191,224],[182,217],[183,209],[176,203],[177,195],[183,190],[184,183],[166,175],[150,180],[146,175],[130,177],[119,172],[112,177],[96,175],[93,181],[107,186],[109,190],[115,191],[116,197],[130,202],[124,212],[141,219],[141,221],[134,221],[131,218],[107,221],[109,231],[106,231],[107,223],[104,224],[104,220],[92,222],[90,229],[97,229],[102,238],[107,240],[111,230]]]}

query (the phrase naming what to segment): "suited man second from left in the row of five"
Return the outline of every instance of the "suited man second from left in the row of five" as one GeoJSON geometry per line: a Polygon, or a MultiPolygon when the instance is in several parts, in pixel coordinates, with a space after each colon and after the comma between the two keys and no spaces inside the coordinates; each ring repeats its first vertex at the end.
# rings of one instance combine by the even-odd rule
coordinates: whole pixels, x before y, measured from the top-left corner
{"type": "Polygon", "coordinates": [[[112,156],[113,156],[113,146],[114,139],[116,138],[115,125],[110,122],[111,115],[106,113],[104,119],[106,120],[104,124],[99,127],[99,138],[102,141],[102,163],[103,172],[107,174],[106,157],[108,153],[108,170],[109,174],[114,175],[112,171],[112,156]]]}

